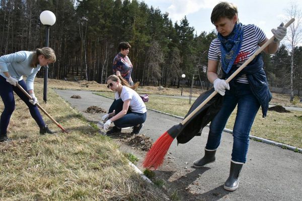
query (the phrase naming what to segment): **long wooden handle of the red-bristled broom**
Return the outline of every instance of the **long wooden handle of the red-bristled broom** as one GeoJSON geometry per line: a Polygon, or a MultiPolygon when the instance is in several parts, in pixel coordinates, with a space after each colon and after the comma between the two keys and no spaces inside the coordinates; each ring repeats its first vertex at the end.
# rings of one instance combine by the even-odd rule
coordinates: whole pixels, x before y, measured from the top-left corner
{"type": "MultiPolygon", "coordinates": [[[[291,23],[293,23],[294,18],[290,19],[284,27],[288,27],[291,23]]],[[[243,68],[245,68],[259,53],[261,53],[264,48],[266,48],[273,40],[275,39],[272,36],[268,41],[266,41],[248,60],[246,60],[228,79],[225,80],[226,83],[229,83],[243,68]]],[[[185,125],[205,104],[209,102],[217,94],[216,91],[212,92],[193,112],[188,115],[182,122],[182,125],[185,125]]]]}

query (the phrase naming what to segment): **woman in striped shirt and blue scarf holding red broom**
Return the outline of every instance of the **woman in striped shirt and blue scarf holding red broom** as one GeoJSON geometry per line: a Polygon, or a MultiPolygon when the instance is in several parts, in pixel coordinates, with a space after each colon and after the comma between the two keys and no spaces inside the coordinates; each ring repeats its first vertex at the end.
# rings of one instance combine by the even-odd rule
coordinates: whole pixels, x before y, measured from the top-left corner
{"type": "MultiPolygon", "coordinates": [[[[210,44],[207,77],[213,83],[215,91],[224,95],[224,99],[221,110],[211,121],[205,154],[194,161],[193,166],[200,168],[215,161],[221,133],[237,106],[230,176],[224,183],[226,190],[233,191],[238,188],[239,173],[246,162],[249,134],[255,116],[260,106],[263,117],[266,116],[272,95],[268,89],[260,54],[229,83],[224,79],[230,77],[268,39],[259,27],[242,25],[238,19],[237,7],[231,3],[217,4],[212,11],[211,22],[218,34],[210,44]],[[224,74],[221,79],[217,76],[218,60],[221,61],[224,74]]],[[[275,40],[264,49],[268,54],[277,51],[279,42],[286,35],[286,28],[280,25],[277,29],[272,29],[272,33],[275,40]]]]}

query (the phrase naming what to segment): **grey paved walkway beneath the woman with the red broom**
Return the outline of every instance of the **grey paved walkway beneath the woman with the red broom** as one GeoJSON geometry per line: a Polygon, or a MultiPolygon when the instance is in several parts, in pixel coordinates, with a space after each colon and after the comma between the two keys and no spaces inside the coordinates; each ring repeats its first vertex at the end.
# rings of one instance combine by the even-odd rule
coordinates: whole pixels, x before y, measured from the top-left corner
{"type": "MultiPolygon", "coordinates": [[[[90,91],[55,91],[91,121],[100,121],[101,117],[99,114],[88,116],[84,113],[88,107],[98,106],[108,110],[112,103],[112,99],[90,91]],[[81,95],[82,98],[70,98],[71,95],[81,95]]],[[[148,111],[140,133],[155,141],[178,123],[180,120],[177,118],[148,111]]],[[[241,172],[240,186],[236,191],[229,192],[223,189],[223,183],[229,175],[233,144],[231,134],[223,133],[216,162],[200,169],[191,167],[192,162],[203,155],[207,133],[208,128],[205,128],[201,137],[178,146],[174,140],[163,166],[156,171],[157,178],[167,182],[166,187],[178,189],[181,200],[302,200],[301,153],[250,140],[248,161],[241,172]]],[[[145,154],[131,147],[121,148],[138,154],[142,159],[145,154]]]]}

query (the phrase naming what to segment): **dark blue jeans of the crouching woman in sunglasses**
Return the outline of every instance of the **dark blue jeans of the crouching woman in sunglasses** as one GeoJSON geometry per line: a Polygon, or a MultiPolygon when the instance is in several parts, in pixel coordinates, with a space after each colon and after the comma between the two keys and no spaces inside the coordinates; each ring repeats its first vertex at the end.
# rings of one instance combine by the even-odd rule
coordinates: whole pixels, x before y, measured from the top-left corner
{"type": "MultiPolygon", "coordinates": [[[[112,103],[110,111],[112,112],[115,110],[115,114],[118,114],[123,109],[124,102],[122,99],[114,99],[114,102],[112,103]]],[[[127,114],[124,115],[122,118],[114,121],[114,125],[119,128],[126,128],[126,127],[132,127],[137,126],[138,124],[142,124],[146,121],[147,113],[133,113],[130,109],[128,109],[127,114]]]]}

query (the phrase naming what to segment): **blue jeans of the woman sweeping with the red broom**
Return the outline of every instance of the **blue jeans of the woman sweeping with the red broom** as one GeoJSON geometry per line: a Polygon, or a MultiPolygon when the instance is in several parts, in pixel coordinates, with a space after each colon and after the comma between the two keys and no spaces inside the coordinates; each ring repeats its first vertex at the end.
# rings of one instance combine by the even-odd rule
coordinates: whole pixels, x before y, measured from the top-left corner
{"type": "Polygon", "coordinates": [[[250,131],[260,108],[258,100],[250,89],[250,84],[230,83],[230,90],[225,91],[222,108],[210,124],[205,148],[209,150],[217,149],[220,144],[221,133],[236,105],[237,116],[233,128],[232,160],[245,163],[249,148],[250,131]]]}

